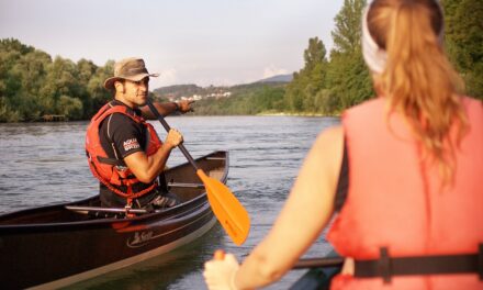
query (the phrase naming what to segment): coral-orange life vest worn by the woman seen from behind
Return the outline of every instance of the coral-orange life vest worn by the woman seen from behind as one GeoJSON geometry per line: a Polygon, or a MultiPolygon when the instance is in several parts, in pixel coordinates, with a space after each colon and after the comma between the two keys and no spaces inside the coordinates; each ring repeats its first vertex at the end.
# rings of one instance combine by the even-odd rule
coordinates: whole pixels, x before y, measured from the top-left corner
{"type": "MultiPolygon", "coordinates": [[[[385,113],[378,98],[347,110],[342,126],[349,160],[344,208],[327,239],[356,260],[478,254],[483,243],[483,104],[462,97],[470,131],[454,150],[454,183],[441,189],[438,167],[422,161],[422,148],[404,120],[385,113]]],[[[478,274],[337,276],[332,289],[483,289],[478,274]]]]}

